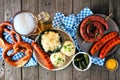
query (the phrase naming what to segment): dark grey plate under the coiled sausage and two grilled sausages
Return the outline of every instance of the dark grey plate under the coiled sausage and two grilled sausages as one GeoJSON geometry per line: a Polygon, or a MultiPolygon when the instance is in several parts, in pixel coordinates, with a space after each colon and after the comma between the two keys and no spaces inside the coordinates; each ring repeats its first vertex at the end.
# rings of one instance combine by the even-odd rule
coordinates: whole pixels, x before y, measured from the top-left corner
{"type": "MultiPolygon", "coordinates": [[[[107,16],[106,15],[103,15],[103,14],[96,14],[96,15],[100,15],[104,18],[106,18],[107,16]]],[[[111,18],[108,18],[107,20],[108,22],[108,25],[109,25],[109,29],[108,30],[105,30],[105,34],[111,32],[111,31],[117,31],[119,32],[119,28],[117,26],[117,24],[111,19],[111,18]]],[[[76,36],[77,36],[77,43],[78,43],[78,46],[80,47],[80,49],[82,49],[83,51],[86,51],[88,53],[90,53],[90,48],[92,47],[92,45],[94,43],[90,43],[90,42],[85,42],[83,43],[83,39],[82,37],[80,36],[80,33],[79,33],[79,27],[77,28],[77,31],[76,31],[76,36]]],[[[112,49],[107,56],[111,55],[116,49],[117,49],[118,46],[116,46],[114,49],[112,49]]],[[[99,55],[99,52],[98,51],[94,56],[98,56],[99,55]]]]}

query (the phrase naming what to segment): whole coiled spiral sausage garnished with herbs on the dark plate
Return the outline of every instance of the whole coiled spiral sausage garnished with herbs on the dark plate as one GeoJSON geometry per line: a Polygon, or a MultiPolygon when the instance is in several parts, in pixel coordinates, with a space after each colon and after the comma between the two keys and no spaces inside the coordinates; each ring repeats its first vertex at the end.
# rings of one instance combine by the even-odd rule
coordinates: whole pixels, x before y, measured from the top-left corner
{"type": "Polygon", "coordinates": [[[80,24],[80,35],[87,42],[96,42],[103,35],[104,30],[108,30],[107,21],[99,15],[86,17],[80,24]]]}

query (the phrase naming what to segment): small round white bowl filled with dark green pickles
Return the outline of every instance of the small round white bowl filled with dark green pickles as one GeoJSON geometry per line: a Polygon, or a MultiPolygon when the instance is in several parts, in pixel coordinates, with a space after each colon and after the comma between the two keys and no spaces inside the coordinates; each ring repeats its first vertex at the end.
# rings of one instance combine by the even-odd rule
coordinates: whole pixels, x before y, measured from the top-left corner
{"type": "Polygon", "coordinates": [[[92,65],[91,57],[86,52],[79,52],[75,54],[72,63],[74,68],[78,71],[86,71],[92,65]]]}

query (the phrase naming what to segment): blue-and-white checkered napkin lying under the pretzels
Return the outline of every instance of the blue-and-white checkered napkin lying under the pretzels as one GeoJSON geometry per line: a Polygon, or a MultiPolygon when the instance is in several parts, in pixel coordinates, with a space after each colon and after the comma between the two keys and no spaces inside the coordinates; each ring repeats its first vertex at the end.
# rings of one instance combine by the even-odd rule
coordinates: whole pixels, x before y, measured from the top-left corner
{"type": "MultiPolygon", "coordinates": [[[[8,27],[9,29],[11,29],[10,27],[8,27]]],[[[3,33],[3,36],[4,36],[4,38],[5,38],[5,40],[6,41],[8,41],[9,43],[13,43],[12,42],[12,37],[8,34],[8,33],[6,33],[6,32],[4,32],[3,33]]],[[[27,37],[25,37],[25,36],[22,36],[22,40],[24,41],[24,42],[28,42],[28,43],[32,43],[32,39],[29,39],[29,38],[27,38],[27,37]]],[[[0,47],[0,60],[2,60],[3,58],[2,58],[2,52],[3,52],[3,49],[0,47]]],[[[10,55],[11,53],[13,52],[13,50],[9,50],[8,51],[8,55],[10,55]]],[[[22,53],[22,52],[19,52],[19,53],[17,53],[17,54],[15,54],[13,57],[12,57],[12,59],[13,60],[18,60],[18,59],[20,59],[20,58],[22,58],[24,56],[24,54],[22,53]]],[[[34,54],[32,55],[32,57],[31,57],[31,59],[24,65],[24,67],[29,67],[29,66],[35,66],[35,65],[37,65],[37,61],[36,61],[36,58],[35,58],[35,56],[34,56],[34,54]]]]}

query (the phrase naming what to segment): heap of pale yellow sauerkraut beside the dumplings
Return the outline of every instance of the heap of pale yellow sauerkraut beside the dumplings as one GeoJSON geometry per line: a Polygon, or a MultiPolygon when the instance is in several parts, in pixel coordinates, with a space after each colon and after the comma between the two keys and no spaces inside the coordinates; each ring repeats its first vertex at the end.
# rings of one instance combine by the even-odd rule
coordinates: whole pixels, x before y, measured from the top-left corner
{"type": "Polygon", "coordinates": [[[41,36],[41,44],[45,52],[59,49],[61,47],[59,33],[54,31],[46,31],[41,36]]]}

